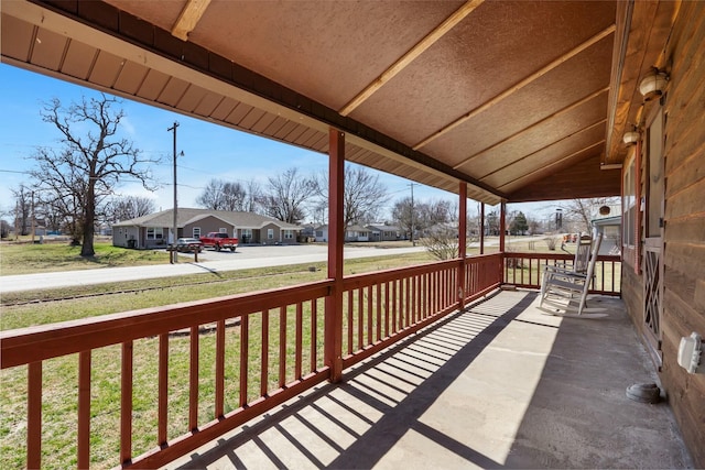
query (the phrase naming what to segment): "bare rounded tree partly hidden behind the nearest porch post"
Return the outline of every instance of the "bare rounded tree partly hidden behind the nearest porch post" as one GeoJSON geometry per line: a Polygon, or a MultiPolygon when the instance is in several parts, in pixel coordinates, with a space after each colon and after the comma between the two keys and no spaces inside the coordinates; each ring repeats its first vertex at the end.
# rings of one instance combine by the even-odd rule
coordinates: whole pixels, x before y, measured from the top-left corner
{"type": "MultiPolygon", "coordinates": [[[[372,221],[387,196],[387,188],[379,176],[364,166],[345,165],[345,187],[343,189],[343,221],[345,227],[372,221]]],[[[321,212],[328,201],[328,175],[322,174],[314,182],[321,212]]]]}

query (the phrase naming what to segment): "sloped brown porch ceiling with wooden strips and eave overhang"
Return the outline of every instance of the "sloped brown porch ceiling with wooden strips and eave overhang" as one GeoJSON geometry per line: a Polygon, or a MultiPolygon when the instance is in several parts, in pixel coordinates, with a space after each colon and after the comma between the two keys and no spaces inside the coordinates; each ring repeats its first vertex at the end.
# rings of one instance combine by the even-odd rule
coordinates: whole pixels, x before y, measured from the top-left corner
{"type": "Polygon", "coordinates": [[[677,8],[642,3],[2,0],[1,47],[317,152],[334,125],[347,160],[488,204],[611,196],[677,8]]]}

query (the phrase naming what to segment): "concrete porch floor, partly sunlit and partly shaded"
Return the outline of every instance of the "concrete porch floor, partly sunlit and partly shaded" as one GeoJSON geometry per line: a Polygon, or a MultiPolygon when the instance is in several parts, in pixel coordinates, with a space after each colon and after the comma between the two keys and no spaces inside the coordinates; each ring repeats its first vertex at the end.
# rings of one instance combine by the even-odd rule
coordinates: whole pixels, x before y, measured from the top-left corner
{"type": "Polygon", "coordinates": [[[692,468],[621,300],[560,318],[501,292],[169,469],[692,468]]]}

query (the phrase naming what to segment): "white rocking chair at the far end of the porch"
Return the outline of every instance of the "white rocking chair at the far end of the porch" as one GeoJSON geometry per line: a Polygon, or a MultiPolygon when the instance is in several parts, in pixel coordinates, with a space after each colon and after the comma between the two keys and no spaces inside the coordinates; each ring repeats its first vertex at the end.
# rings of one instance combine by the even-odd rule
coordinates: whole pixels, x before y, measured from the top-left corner
{"type": "Polygon", "coordinates": [[[607,314],[600,313],[605,311],[605,308],[590,308],[586,305],[601,240],[601,233],[592,240],[581,238],[577,241],[578,245],[572,269],[545,266],[539,309],[563,317],[599,318],[607,316],[607,314]]]}

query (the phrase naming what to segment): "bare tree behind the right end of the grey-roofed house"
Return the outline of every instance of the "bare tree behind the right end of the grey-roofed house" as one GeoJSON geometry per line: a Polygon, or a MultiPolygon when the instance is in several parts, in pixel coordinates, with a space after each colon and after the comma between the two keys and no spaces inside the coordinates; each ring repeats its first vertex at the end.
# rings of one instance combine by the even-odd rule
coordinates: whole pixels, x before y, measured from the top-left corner
{"type": "Polygon", "coordinates": [[[264,196],[267,215],[284,222],[297,223],[306,216],[304,204],[314,196],[314,187],[313,181],[302,177],[296,168],[270,176],[264,196]]]}

